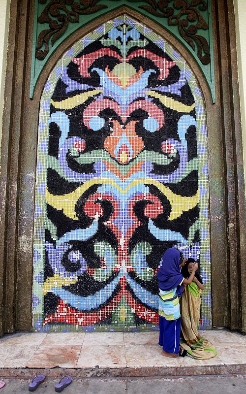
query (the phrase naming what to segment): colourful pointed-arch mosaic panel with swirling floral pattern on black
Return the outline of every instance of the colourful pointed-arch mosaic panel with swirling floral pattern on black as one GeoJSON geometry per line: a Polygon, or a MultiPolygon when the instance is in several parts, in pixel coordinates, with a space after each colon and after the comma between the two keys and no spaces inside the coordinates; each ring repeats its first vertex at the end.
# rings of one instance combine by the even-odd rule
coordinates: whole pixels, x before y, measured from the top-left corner
{"type": "Polygon", "coordinates": [[[200,261],[211,326],[206,112],[194,75],[127,15],[80,39],[40,102],[33,330],[156,330],[168,247],[200,261]]]}

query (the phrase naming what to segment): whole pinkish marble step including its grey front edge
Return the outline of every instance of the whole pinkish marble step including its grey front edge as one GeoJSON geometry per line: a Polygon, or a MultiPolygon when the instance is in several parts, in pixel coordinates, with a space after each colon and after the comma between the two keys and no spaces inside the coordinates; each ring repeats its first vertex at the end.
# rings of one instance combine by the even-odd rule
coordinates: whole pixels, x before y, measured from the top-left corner
{"type": "Polygon", "coordinates": [[[246,372],[246,335],[201,331],[216,348],[211,360],[161,356],[158,332],[19,332],[0,338],[0,376],[131,377],[246,372]]]}

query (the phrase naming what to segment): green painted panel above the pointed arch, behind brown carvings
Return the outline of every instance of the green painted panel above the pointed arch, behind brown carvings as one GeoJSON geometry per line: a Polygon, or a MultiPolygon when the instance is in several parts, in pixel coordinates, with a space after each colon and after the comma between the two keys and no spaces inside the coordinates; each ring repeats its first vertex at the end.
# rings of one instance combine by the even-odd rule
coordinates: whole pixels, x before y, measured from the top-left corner
{"type": "Polygon", "coordinates": [[[211,0],[200,0],[196,5],[192,5],[192,0],[180,0],[179,3],[181,4],[181,6],[179,9],[175,8],[175,5],[177,6],[177,2],[175,0],[167,0],[166,4],[168,5],[168,7],[173,8],[173,18],[171,19],[171,21],[170,18],[164,16],[165,12],[168,11],[168,8],[166,6],[162,6],[161,8],[161,5],[159,5],[160,1],[158,0],[88,0],[84,1],[84,4],[86,5],[81,5],[79,3],[80,11],[78,12],[76,11],[76,9],[75,11],[72,10],[72,4],[75,4],[75,1],[71,0],[70,3],[71,5],[64,5],[63,0],[35,0],[30,98],[33,97],[33,92],[37,80],[47,61],[67,37],[69,37],[72,33],[76,32],[78,29],[101,17],[102,15],[105,15],[124,5],[134,11],[139,12],[145,17],[150,18],[152,21],[166,29],[169,33],[173,34],[184,45],[184,47],[195,59],[198,66],[201,68],[205,80],[208,83],[212,100],[213,102],[215,102],[215,72],[211,0]],[[50,11],[49,7],[51,5],[53,6],[53,9],[54,7],[57,7],[57,16],[51,15],[50,12],[45,12],[45,10],[50,11]],[[98,9],[98,7],[100,8],[98,9]],[[187,20],[186,11],[189,11],[189,13],[193,13],[193,16],[195,18],[194,21],[187,20]],[[174,18],[175,16],[176,18],[174,18]],[[199,16],[201,17],[200,20],[198,18],[199,16]],[[57,29],[52,32],[49,26],[49,22],[61,24],[61,21],[59,21],[58,17],[67,19],[67,26],[65,29],[57,29]],[[77,21],[72,21],[72,18],[73,20],[76,19],[77,21]],[[183,21],[183,25],[186,24],[187,26],[184,25],[184,27],[179,31],[178,24],[175,25],[171,23],[181,20],[183,21]],[[191,29],[190,32],[192,34],[186,33],[187,31],[189,31],[189,28],[191,29]],[[62,30],[64,31],[62,32],[62,30]],[[57,33],[57,38],[55,33],[57,33]],[[44,36],[47,36],[46,43],[44,43],[42,39],[44,38],[44,36]],[[190,44],[185,40],[185,37],[190,44]],[[39,47],[38,41],[40,41],[39,47]],[[199,44],[201,42],[204,43],[204,46],[200,48],[199,55],[199,44]],[[191,45],[193,46],[193,48],[191,45]],[[207,54],[210,54],[210,60],[204,52],[204,48],[206,50],[206,45],[207,54]],[[40,59],[36,57],[37,50],[39,50],[40,59]],[[47,52],[46,56],[44,56],[44,52],[47,52]],[[200,60],[202,59],[202,56],[204,57],[204,59],[206,58],[204,62],[200,60]],[[41,59],[41,57],[43,57],[43,59],[41,59]]]}

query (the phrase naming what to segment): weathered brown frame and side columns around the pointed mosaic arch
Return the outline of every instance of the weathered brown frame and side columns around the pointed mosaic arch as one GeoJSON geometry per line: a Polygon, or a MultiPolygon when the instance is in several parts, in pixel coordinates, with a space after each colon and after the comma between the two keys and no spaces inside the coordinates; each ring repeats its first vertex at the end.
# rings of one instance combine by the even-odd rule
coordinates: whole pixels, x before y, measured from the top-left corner
{"type": "Polygon", "coordinates": [[[242,193],[244,190],[242,136],[239,105],[237,106],[239,103],[237,69],[230,62],[231,56],[236,56],[235,47],[234,50],[232,47],[233,43],[235,44],[235,26],[232,21],[229,23],[229,14],[233,16],[233,2],[230,1],[229,9],[223,0],[219,0],[213,7],[214,39],[215,46],[219,50],[218,57],[215,55],[218,99],[214,105],[198,65],[180,42],[148,18],[127,7],[119,8],[112,15],[101,17],[70,36],[47,62],[38,80],[33,100],[29,99],[32,46],[30,21],[33,18],[33,4],[34,2],[31,1],[30,5],[28,0],[12,0],[10,11],[10,46],[5,89],[7,102],[4,108],[1,146],[3,226],[0,234],[0,276],[4,278],[4,285],[0,294],[3,316],[0,332],[31,328],[37,127],[39,102],[44,83],[62,53],[73,43],[107,20],[123,13],[141,21],[171,42],[185,58],[197,81],[200,82],[208,126],[213,325],[245,330],[245,314],[240,306],[246,296],[246,289],[243,287],[246,283],[246,271],[243,264],[241,266],[241,261],[245,261],[243,255],[246,249],[242,193]],[[215,20],[217,31],[215,31],[215,20]],[[229,41],[231,47],[227,47],[225,37],[231,38],[229,41]],[[230,72],[232,77],[229,75],[230,72]],[[236,155],[233,154],[233,148],[236,155]],[[225,168],[229,171],[228,177],[225,168]],[[222,272],[225,275],[221,275],[222,272]],[[232,303],[231,300],[235,302],[232,303]]]}

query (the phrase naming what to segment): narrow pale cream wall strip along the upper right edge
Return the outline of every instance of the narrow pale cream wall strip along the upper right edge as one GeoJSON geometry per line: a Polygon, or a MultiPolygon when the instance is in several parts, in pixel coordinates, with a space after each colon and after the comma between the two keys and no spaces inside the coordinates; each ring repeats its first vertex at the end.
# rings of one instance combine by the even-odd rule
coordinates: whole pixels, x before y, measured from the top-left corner
{"type": "Polygon", "coordinates": [[[238,75],[241,104],[241,119],[244,148],[244,170],[246,180],[246,0],[234,0],[238,75]]]}

